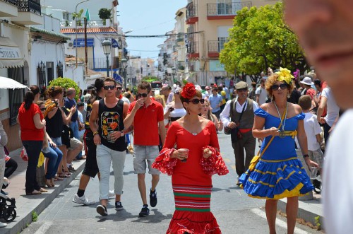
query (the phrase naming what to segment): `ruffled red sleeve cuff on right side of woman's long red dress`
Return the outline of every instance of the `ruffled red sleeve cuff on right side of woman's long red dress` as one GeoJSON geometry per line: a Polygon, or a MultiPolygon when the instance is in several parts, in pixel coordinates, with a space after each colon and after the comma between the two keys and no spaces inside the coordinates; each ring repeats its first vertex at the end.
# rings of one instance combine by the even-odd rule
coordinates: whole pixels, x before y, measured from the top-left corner
{"type": "Polygon", "coordinates": [[[220,152],[212,146],[205,146],[202,148],[202,151],[204,151],[205,148],[208,148],[212,152],[212,155],[208,158],[201,157],[200,165],[202,166],[203,171],[207,175],[227,175],[229,170],[227,165],[225,165],[225,161],[220,155],[220,152]]]}

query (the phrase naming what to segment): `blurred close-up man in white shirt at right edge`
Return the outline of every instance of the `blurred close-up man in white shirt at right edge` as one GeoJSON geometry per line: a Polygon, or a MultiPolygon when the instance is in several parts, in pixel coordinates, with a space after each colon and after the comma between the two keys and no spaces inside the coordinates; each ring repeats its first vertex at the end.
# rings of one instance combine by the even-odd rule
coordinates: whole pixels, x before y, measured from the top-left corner
{"type": "MultiPolygon", "coordinates": [[[[353,1],[286,0],[285,21],[299,37],[306,59],[345,109],[330,136],[323,168],[325,232],[353,230],[353,1]]],[[[318,115],[319,116],[319,115],[318,115]]]]}

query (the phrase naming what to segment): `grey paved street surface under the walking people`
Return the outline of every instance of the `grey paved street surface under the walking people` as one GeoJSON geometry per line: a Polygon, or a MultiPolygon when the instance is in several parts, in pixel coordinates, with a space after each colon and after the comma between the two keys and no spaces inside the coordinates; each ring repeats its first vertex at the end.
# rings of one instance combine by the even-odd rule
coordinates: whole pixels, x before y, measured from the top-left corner
{"type": "MultiPolygon", "coordinates": [[[[220,148],[229,174],[213,177],[213,194],[211,211],[217,218],[222,233],[268,233],[264,204],[261,199],[248,197],[235,185],[236,172],[234,169],[234,155],[230,144],[230,136],[218,134],[220,148]]],[[[258,146],[256,146],[258,151],[258,146]]],[[[158,204],[150,207],[150,216],[139,218],[138,213],[142,201],[137,187],[137,176],[133,173],[131,154],[126,155],[124,169],[124,194],[121,202],[123,211],[115,211],[114,199],[107,207],[109,215],[100,216],[95,208],[98,204],[99,185],[95,178],[91,180],[85,195],[93,199],[96,204],[81,206],[72,202],[78,189],[80,177],[76,177],[64,192],[56,197],[47,209],[38,216],[22,233],[165,233],[174,212],[174,197],[172,193],[171,177],[161,175],[157,186],[158,204]]],[[[113,188],[114,177],[110,177],[110,189],[113,188]]],[[[146,175],[146,187],[150,187],[150,175],[146,175]]],[[[287,233],[285,218],[277,215],[277,233],[287,233]]],[[[294,233],[321,233],[307,226],[297,224],[294,233]]]]}

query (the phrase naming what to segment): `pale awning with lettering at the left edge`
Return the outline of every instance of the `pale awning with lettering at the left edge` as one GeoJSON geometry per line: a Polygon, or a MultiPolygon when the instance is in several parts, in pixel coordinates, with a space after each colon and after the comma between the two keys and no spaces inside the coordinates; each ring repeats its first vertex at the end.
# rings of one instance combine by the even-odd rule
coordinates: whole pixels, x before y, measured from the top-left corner
{"type": "Polygon", "coordinates": [[[0,69],[23,66],[20,47],[7,37],[0,37],[0,69]]]}

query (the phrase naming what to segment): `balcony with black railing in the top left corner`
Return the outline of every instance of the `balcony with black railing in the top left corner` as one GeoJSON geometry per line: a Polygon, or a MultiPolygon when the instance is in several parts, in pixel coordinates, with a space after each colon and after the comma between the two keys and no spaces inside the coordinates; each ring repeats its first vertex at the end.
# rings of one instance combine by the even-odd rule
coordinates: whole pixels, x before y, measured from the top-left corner
{"type": "Polygon", "coordinates": [[[43,18],[40,10],[40,0],[17,0],[18,16],[11,18],[18,25],[41,25],[43,18]]]}

